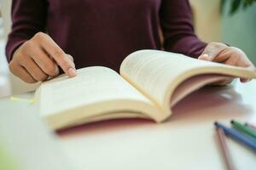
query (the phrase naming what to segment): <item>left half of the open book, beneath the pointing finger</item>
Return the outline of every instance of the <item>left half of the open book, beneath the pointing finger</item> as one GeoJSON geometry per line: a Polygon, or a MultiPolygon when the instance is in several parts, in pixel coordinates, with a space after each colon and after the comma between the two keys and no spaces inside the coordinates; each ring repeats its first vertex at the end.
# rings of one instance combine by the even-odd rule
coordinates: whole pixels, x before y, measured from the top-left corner
{"type": "Polygon", "coordinates": [[[135,113],[138,117],[150,117],[158,112],[149,99],[119,74],[101,66],[80,69],[73,78],[61,76],[44,82],[38,93],[40,114],[54,128],[80,120],[90,122],[94,116],[107,118],[111,112],[125,111],[127,116],[130,111],[132,117],[135,113]]]}

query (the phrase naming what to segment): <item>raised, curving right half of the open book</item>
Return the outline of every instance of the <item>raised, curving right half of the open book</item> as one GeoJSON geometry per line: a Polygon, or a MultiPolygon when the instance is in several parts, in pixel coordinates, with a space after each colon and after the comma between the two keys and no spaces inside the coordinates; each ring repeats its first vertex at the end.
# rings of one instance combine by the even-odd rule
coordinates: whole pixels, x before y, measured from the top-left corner
{"type": "Polygon", "coordinates": [[[255,72],[244,68],[157,50],[141,50],[130,54],[122,63],[120,74],[169,116],[172,92],[189,77],[201,74],[256,77],[255,72]]]}

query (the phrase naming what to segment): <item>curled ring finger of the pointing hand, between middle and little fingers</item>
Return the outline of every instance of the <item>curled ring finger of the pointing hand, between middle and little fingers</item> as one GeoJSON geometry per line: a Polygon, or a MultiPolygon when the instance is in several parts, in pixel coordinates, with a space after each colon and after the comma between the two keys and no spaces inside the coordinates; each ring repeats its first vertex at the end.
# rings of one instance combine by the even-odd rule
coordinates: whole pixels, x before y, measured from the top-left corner
{"type": "Polygon", "coordinates": [[[20,59],[20,65],[26,68],[26,71],[38,82],[44,82],[48,79],[48,75],[42,71],[39,66],[28,56],[20,59]]]}

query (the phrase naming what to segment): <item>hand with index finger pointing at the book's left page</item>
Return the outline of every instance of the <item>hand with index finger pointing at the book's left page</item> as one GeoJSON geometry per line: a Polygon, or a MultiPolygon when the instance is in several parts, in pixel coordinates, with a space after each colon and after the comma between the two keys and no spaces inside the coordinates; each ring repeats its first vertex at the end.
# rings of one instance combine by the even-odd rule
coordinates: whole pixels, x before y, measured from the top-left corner
{"type": "Polygon", "coordinates": [[[38,32],[15,51],[9,69],[24,82],[33,83],[58,76],[57,65],[68,77],[76,76],[73,57],[65,54],[47,34],[38,32]]]}

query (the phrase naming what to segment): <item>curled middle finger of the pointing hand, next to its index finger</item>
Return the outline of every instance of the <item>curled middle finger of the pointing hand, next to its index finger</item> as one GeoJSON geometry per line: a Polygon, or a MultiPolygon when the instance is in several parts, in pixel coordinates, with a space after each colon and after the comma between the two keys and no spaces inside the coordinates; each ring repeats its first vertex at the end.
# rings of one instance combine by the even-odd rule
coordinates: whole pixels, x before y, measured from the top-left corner
{"type": "Polygon", "coordinates": [[[35,46],[26,54],[31,56],[40,69],[50,77],[56,77],[59,75],[59,68],[55,64],[55,61],[50,59],[49,55],[46,54],[42,48],[35,46]]]}

